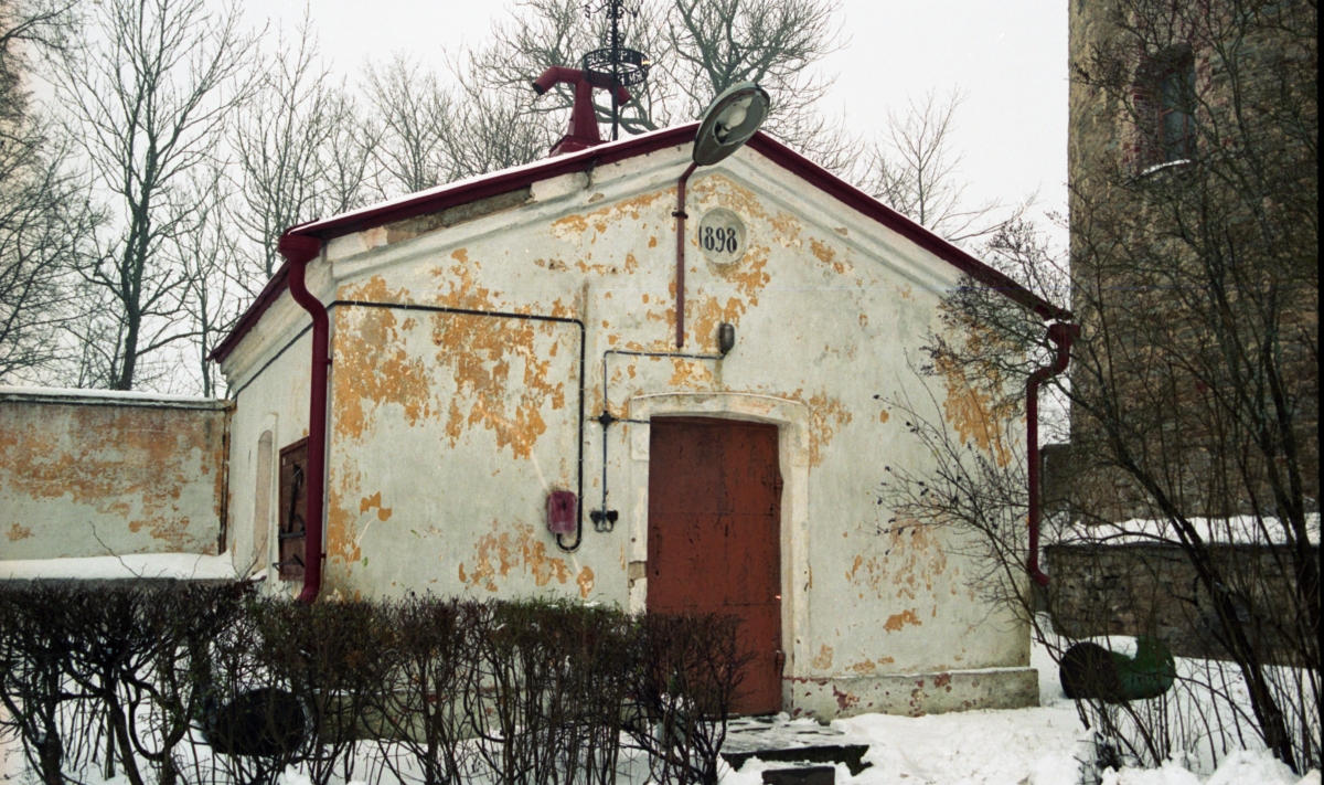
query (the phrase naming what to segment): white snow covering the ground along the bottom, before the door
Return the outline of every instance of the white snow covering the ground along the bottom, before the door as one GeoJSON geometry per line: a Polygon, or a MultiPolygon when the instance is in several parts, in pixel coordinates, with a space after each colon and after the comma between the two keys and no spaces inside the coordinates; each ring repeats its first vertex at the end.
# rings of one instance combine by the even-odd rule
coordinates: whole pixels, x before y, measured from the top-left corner
{"type": "MultiPolygon", "coordinates": [[[[1092,745],[1075,705],[1062,694],[1057,667],[1047,651],[1035,646],[1031,664],[1039,668],[1042,705],[1017,711],[978,711],[924,717],[862,715],[837,720],[833,727],[870,740],[857,776],[837,766],[838,785],[1078,785],[1080,760],[1092,745]]],[[[21,765],[16,744],[0,745],[0,781],[36,782],[21,765]],[[8,755],[4,755],[8,752],[8,755]]],[[[727,769],[722,785],[761,785],[761,772],[785,764],[751,760],[739,772],[727,769]]],[[[636,766],[637,769],[637,766],[636,766]]],[[[363,769],[360,769],[363,770],[363,769]]],[[[91,774],[89,772],[89,774],[91,774]]],[[[630,778],[630,777],[626,777],[630,778]]],[[[388,778],[381,785],[393,785],[388,778]]],[[[126,785],[123,777],[89,776],[86,785],[126,785]]],[[[1090,782],[1091,780],[1086,780],[1090,782]]],[[[282,785],[310,785],[306,774],[290,769],[282,785]]],[[[351,781],[343,785],[363,785],[351,781]]],[[[1227,756],[1218,769],[1201,777],[1180,762],[1161,769],[1108,770],[1099,785],[1321,785],[1320,773],[1298,777],[1264,751],[1227,756]]]]}

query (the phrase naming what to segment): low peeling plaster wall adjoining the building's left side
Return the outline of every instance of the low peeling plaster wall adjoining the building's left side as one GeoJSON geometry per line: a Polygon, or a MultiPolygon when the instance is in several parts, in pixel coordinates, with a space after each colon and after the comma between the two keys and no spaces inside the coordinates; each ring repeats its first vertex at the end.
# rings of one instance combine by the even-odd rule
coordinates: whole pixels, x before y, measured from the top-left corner
{"type": "Polygon", "coordinates": [[[0,389],[0,560],[216,554],[225,400],[0,389]]]}

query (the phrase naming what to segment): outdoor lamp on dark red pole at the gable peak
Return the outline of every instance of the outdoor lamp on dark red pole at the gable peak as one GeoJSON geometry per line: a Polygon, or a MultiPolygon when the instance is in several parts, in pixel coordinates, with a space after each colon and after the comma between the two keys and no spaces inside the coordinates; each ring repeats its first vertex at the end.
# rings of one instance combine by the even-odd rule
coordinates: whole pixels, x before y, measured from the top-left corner
{"type": "MultiPolygon", "coordinates": [[[[685,184],[694,170],[739,150],[768,119],[768,93],[753,82],[727,88],[703,113],[694,135],[694,163],[675,187],[675,347],[685,346],[685,184]]],[[[732,335],[733,341],[733,335],[732,335]]]]}

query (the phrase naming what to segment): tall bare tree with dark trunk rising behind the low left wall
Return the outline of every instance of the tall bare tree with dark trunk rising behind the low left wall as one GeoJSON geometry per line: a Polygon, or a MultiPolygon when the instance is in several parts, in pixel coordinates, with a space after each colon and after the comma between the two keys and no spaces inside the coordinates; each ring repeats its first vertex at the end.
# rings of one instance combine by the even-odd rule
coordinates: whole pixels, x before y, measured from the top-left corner
{"type": "Polygon", "coordinates": [[[87,46],[56,61],[53,77],[97,186],[113,195],[111,232],[85,278],[106,290],[118,328],[106,379],[139,381],[143,358],[188,338],[179,325],[187,276],[168,255],[180,186],[213,160],[229,113],[249,93],[256,38],[237,5],[204,0],[106,0],[87,46]]]}

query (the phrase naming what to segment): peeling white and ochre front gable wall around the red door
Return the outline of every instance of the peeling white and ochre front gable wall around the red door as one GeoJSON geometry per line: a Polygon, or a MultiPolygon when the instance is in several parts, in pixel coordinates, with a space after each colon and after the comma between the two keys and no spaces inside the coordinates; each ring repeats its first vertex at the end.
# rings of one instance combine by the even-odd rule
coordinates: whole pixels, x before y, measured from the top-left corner
{"type": "MultiPolygon", "coordinates": [[[[538,183],[458,223],[335,239],[314,265],[334,281],[323,298],[581,320],[581,503],[596,509],[604,353],[675,350],[671,213],[687,159],[687,147],[665,150],[538,183]]],[[[720,322],[736,326],[735,350],[722,362],[616,355],[610,410],[781,427],[786,708],[833,716],[1033,703],[1026,626],[968,585],[977,573],[949,532],[891,522],[876,504],[884,465],[932,468],[884,398],[932,399],[974,450],[1008,450],[982,432],[981,418],[994,412],[981,410],[977,391],[914,370],[927,333],[941,329],[937,305],[956,271],[749,150],[695,172],[687,212],[685,351],[715,353],[720,322]],[[710,261],[695,233],[716,207],[745,224],[744,257],[730,265],[710,261]],[[978,668],[994,670],[951,676],[978,668]],[[943,695],[920,708],[870,697],[941,674],[943,695]],[[842,696],[824,699],[835,691],[842,696]]],[[[568,324],[334,309],[332,595],[429,590],[643,606],[646,424],[608,434],[613,532],[593,532],[585,516],[583,548],[565,554],[543,524],[547,491],[576,488],[579,339],[568,324]]]]}

